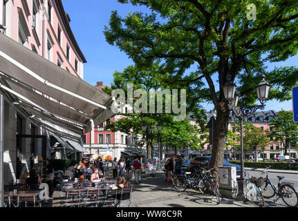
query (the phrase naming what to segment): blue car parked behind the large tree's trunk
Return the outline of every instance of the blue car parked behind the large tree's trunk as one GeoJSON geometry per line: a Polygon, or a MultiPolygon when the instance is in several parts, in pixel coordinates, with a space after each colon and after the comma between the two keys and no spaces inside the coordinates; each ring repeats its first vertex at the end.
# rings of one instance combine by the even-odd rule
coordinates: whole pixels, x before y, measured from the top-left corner
{"type": "MultiPolygon", "coordinates": [[[[201,166],[210,166],[211,156],[196,156],[192,158],[192,162],[189,163],[188,171],[194,171],[194,168],[201,166]]],[[[227,159],[223,159],[223,166],[236,166],[236,177],[240,178],[241,166],[230,163],[227,159]]]]}

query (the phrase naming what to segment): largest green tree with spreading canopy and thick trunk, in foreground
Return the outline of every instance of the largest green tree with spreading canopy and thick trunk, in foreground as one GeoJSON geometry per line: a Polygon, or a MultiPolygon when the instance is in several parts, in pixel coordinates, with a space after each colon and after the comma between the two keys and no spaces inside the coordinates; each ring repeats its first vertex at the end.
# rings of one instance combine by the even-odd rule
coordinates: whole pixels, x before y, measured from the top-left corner
{"type": "Polygon", "coordinates": [[[238,84],[243,104],[257,99],[254,88],[262,74],[272,84],[270,99],[290,99],[297,68],[266,71],[266,62],[284,61],[297,54],[297,0],[119,0],[147,6],[151,15],[112,12],[104,35],[127,53],[138,67],[159,61],[162,80],[171,88],[187,88],[192,111],[202,102],[216,109],[211,166],[223,163],[230,111],[222,87],[227,76],[238,84]],[[250,19],[254,3],[257,19],[250,19]],[[188,69],[196,67],[189,73],[188,69]]]}

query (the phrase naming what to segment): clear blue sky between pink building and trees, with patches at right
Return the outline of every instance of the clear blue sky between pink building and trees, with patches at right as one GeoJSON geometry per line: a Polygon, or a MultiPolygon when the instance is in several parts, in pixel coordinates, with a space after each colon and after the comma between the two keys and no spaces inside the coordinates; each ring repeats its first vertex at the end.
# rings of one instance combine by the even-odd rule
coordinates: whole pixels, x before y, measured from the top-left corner
{"type": "MultiPolygon", "coordinates": [[[[64,10],[71,17],[71,28],[77,39],[87,63],[84,64],[84,80],[89,84],[95,85],[96,81],[104,81],[105,85],[110,86],[113,81],[113,73],[122,71],[133,61],[116,46],[111,46],[104,37],[104,26],[109,26],[111,11],[117,10],[124,17],[129,12],[147,12],[151,11],[145,7],[132,6],[131,4],[118,3],[117,0],[62,0],[64,10]]],[[[292,57],[285,62],[268,65],[272,70],[274,66],[297,66],[298,56],[292,57]]],[[[213,108],[212,104],[204,104],[209,110],[213,108]]],[[[269,101],[266,103],[266,109],[281,111],[281,109],[292,110],[292,101],[277,102],[269,101]]]]}

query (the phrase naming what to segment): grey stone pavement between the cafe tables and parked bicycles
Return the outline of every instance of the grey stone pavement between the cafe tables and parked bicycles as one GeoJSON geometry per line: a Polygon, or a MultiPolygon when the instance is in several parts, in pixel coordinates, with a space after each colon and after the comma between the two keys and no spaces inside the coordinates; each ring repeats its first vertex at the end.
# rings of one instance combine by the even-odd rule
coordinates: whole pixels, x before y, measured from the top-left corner
{"type": "MultiPolygon", "coordinates": [[[[107,173],[107,176],[111,171],[107,173]]],[[[198,193],[198,191],[188,189],[185,192],[178,193],[171,184],[165,182],[165,175],[159,173],[156,177],[145,177],[142,175],[142,182],[136,184],[134,180],[131,182],[133,192],[131,193],[130,207],[259,207],[257,202],[243,204],[243,202],[221,198],[221,204],[217,204],[211,195],[198,193]]],[[[53,194],[53,198],[49,200],[50,204],[44,206],[60,206],[60,191],[57,190],[53,194]]],[[[266,207],[283,207],[282,200],[276,204],[272,200],[266,200],[266,207]]]]}

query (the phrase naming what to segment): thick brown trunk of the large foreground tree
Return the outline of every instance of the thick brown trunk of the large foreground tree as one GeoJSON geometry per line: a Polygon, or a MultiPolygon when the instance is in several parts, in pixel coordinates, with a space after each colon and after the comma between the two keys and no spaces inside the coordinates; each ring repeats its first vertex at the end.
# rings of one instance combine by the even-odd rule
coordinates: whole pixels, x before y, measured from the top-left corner
{"type": "Polygon", "coordinates": [[[216,126],[214,133],[214,144],[212,145],[212,157],[210,166],[214,168],[214,175],[218,173],[218,166],[223,166],[225,154],[225,139],[227,137],[227,126],[229,124],[230,111],[224,101],[219,102],[216,109],[216,126]]]}

